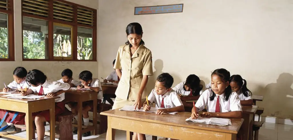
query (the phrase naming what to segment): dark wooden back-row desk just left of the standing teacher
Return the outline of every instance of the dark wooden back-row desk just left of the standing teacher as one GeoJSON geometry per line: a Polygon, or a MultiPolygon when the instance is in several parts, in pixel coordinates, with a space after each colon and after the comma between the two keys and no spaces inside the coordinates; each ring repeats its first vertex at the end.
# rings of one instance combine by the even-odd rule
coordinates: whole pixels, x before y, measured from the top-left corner
{"type": "Polygon", "coordinates": [[[116,98],[115,92],[117,89],[117,85],[113,85],[113,84],[101,84],[102,86],[102,91],[103,91],[103,102],[102,103],[106,103],[106,101],[108,101],[112,106],[114,104],[114,102],[112,101],[111,98],[116,98]]]}

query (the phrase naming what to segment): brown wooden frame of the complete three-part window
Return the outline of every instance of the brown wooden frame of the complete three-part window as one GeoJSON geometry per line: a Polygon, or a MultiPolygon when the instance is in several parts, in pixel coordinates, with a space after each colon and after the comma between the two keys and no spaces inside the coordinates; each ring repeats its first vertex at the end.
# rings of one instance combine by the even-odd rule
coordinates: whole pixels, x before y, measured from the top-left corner
{"type": "MultiPolygon", "coordinates": [[[[42,17],[42,16],[38,16],[38,15],[30,15],[27,13],[23,12],[23,0],[21,0],[21,16],[22,17],[28,17],[28,18],[37,18],[40,20],[46,20],[48,21],[48,47],[46,48],[46,53],[48,54],[48,59],[29,59],[29,58],[23,58],[23,54],[22,54],[22,60],[23,61],[97,61],[97,10],[93,9],[93,8],[89,8],[86,6],[82,6],[79,4],[75,4],[72,2],[68,2],[65,0],[56,0],[56,1],[60,1],[66,4],[70,4],[73,6],[73,13],[74,13],[74,20],[73,22],[67,22],[67,21],[63,21],[63,20],[57,20],[53,18],[53,0],[47,0],[48,4],[49,4],[49,13],[48,13],[48,17],[42,17]],[[89,10],[93,11],[93,26],[90,25],[84,25],[84,24],[80,24],[77,22],[77,7],[82,7],[82,8],[86,8],[89,10]],[[53,51],[53,28],[54,28],[54,24],[56,23],[60,23],[63,25],[71,25],[72,26],[72,32],[71,32],[71,51],[72,51],[72,57],[73,59],[68,59],[66,57],[63,57],[64,59],[58,59],[58,57],[54,57],[54,51],[53,51]],[[92,47],[93,47],[93,59],[92,60],[78,60],[77,59],[77,27],[86,27],[86,28],[91,28],[92,29],[92,47]],[[51,31],[51,32],[50,32],[51,31]]],[[[0,11],[1,12],[1,11],[0,11]]],[[[22,18],[23,20],[23,18],[22,18]]],[[[22,21],[23,23],[23,21],[22,21]]],[[[22,46],[23,46],[23,26],[22,26],[22,46]]],[[[23,47],[22,47],[22,52],[23,52],[23,47]]]]}

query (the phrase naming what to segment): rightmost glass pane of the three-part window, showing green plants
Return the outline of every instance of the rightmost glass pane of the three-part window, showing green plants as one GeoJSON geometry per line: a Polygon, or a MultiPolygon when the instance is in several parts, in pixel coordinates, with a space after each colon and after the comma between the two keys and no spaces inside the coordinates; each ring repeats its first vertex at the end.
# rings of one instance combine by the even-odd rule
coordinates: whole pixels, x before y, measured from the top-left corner
{"type": "Polygon", "coordinates": [[[93,59],[92,29],[77,27],[77,59],[93,59]]]}

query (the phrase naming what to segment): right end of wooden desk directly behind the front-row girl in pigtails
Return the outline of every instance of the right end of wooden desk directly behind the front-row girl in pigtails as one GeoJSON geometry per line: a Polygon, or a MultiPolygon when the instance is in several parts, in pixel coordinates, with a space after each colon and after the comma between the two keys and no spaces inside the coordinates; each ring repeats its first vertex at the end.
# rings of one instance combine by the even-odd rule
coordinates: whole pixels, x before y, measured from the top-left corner
{"type": "Polygon", "coordinates": [[[242,128],[244,131],[243,140],[252,140],[254,115],[258,106],[242,106],[242,118],[244,119],[242,128]]]}

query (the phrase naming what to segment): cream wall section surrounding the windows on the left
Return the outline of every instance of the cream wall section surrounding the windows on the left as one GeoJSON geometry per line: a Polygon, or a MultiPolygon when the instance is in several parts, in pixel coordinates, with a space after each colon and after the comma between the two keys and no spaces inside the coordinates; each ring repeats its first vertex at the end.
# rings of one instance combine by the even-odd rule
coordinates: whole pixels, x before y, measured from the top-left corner
{"type": "MultiPolygon", "coordinates": [[[[98,9],[98,1],[96,0],[68,0],[70,2],[98,9]]],[[[21,23],[21,1],[14,0],[14,33],[15,33],[15,61],[5,62],[0,61],[0,83],[6,84],[13,81],[13,70],[22,66],[27,70],[39,69],[42,70],[48,78],[59,80],[61,72],[65,68],[70,68],[73,71],[74,78],[78,79],[78,75],[83,70],[90,70],[94,77],[98,76],[98,62],[58,62],[58,61],[22,61],[22,23],[21,23]]],[[[0,86],[4,87],[4,85],[0,86]]]]}

